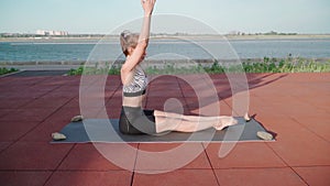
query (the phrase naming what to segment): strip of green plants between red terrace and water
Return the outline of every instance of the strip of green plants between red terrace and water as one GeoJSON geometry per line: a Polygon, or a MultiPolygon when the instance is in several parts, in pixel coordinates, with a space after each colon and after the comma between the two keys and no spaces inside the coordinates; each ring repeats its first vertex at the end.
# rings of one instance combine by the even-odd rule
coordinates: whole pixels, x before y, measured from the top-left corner
{"type": "MultiPolygon", "coordinates": [[[[223,73],[329,73],[330,59],[326,62],[317,62],[306,58],[285,58],[276,59],[264,57],[263,62],[246,61],[239,65],[221,66],[215,62],[210,66],[198,64],[191,67],[176,67],[174,64],[167,64],[164,67],[151,66],[146,68],[146,73],[151,75],[175,75],[175,74],[223,74],[223,73]]],[[[68,75],[119,75],[118,67],[86,67],[80,66],[77,69],[70,69],[68,75]]]]}

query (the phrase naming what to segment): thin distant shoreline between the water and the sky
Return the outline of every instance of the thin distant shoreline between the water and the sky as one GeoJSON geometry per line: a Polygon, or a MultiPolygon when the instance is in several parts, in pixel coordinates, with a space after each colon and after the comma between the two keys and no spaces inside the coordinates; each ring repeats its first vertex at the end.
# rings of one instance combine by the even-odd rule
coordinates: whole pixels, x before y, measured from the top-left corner
{"type": "MultiPolygon", "coordinates": [[[[41,37],[0,37],[0,42],[61,42],[61,41],[99,41],[118,40],[117,35],[106,36],[41,36],[41,37]]],[[[308,39],[330,39],[330,34],[297,34],[297,35],[156,35],[153,40],[308,40],[308,39]]]]}

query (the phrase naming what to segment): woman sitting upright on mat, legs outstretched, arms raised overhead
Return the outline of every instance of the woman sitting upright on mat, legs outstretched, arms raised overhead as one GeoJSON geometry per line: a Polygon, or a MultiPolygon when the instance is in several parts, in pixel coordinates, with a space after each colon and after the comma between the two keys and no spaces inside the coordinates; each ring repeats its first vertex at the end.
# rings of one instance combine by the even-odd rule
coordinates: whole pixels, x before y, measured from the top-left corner
{"type": "Polygon", "coordinates": [[[150,24],[155,0],[141,0],[144,20],[140,35],[124,31],[120,43],[125,55],[121,68],[123,101],[120,116],[120,131],[124,134],[160,134],[168,131],[195,132],[209,128],[222,130],[237,124],[232,117],[196,117],[169,113],[160,110],[143,110],[147,78],[140,66],[148,45],[150,24]]]}

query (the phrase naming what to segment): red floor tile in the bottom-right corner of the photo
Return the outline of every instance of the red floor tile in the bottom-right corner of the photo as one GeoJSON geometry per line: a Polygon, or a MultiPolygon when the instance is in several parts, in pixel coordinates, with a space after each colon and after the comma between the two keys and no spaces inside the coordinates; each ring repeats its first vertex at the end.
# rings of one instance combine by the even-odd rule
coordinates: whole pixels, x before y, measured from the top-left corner
{"type": "Polygon", "coordinates": [[[329,186],[330,166],[293,167],[308,185],[329,186]]]}

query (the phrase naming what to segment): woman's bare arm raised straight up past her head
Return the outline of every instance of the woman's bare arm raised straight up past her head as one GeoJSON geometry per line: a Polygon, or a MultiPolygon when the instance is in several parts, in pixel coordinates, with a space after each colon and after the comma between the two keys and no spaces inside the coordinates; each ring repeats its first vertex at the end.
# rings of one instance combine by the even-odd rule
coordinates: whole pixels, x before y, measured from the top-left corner
{"type": "Polygon", "coordinates": [[[132,54],[129,57],[127,57],[127,62],[121,68],[122,74],[131,72],[139,64],[142,56],[145,54],[150,37],[151,17],[155,2],[156,0],[141,0],[142,8],[144,10],[144,18],[141,33],[139,36],[139,42],[136,47],[133,50],[132,54]]]}

